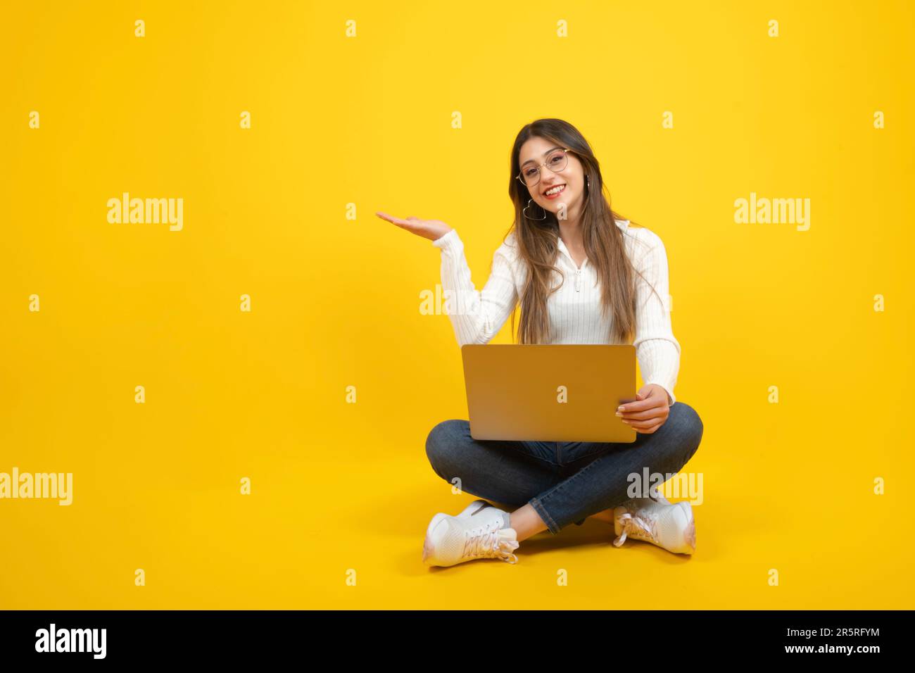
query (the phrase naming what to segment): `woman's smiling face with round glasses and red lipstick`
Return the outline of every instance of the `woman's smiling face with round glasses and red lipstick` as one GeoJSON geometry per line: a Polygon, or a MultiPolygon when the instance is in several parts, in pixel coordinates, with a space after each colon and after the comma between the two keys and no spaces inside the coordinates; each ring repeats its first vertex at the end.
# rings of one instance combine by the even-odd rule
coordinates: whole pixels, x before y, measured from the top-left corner
{"type": "MultiPolygon", "coordinates": [[[[556,173],[549,168],[541,166],[544,162],[549,166],[549,159],[559,160],[562,154],[558,150],[563,147],[539,136],[529,138],[521,147],[519,162],[521,163],[522,178],[528,172],[540,166],[540,181],[527,190],[534,203],[545,211],[557,212],[561,203],[565,203],[567,215],[578,211],[585,195],[585,169],[573,152],[566,152],[568,161],[560,172],[556,173]],[[551,192],[551,193],[547,193],[551,192]]],[[[561,165],[561,164],[559,164],[561,165]]]]}

